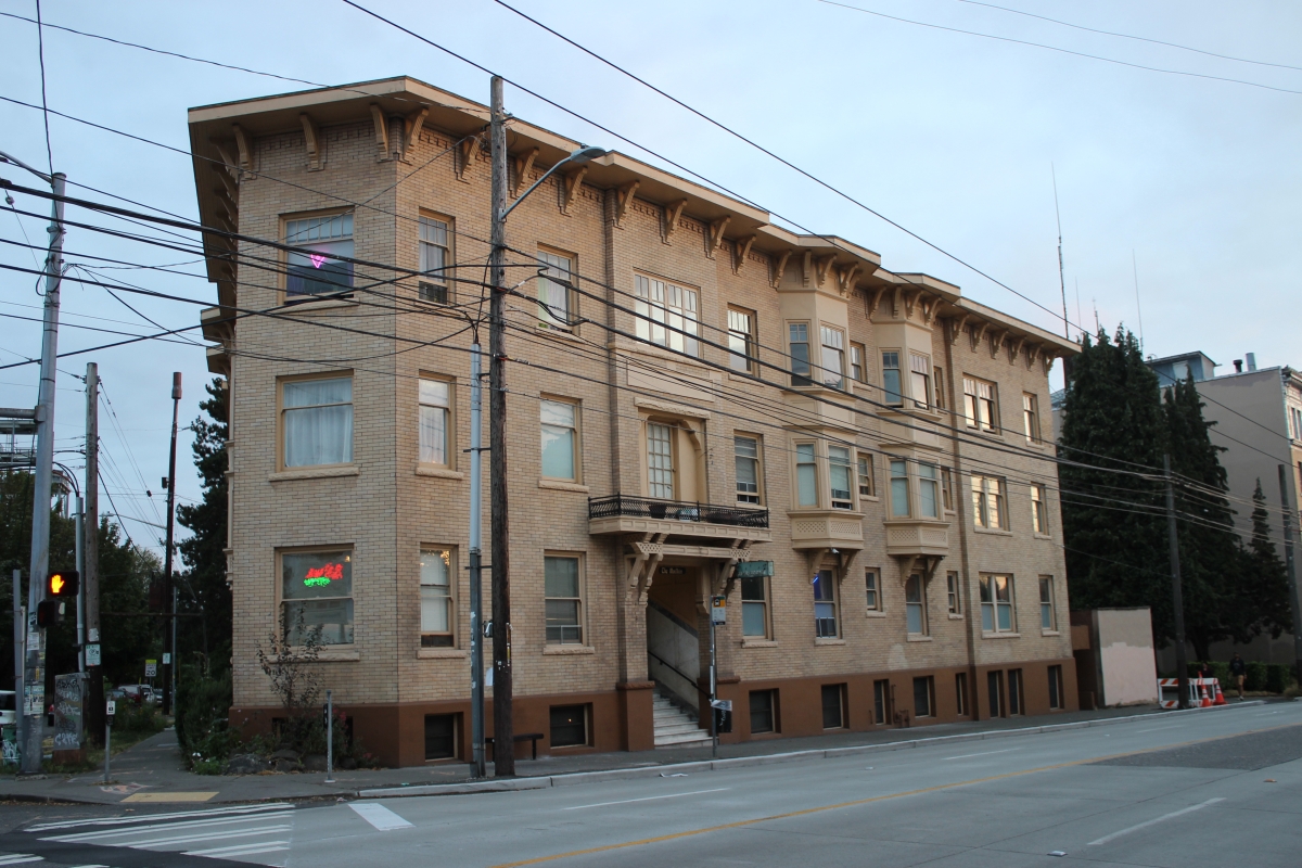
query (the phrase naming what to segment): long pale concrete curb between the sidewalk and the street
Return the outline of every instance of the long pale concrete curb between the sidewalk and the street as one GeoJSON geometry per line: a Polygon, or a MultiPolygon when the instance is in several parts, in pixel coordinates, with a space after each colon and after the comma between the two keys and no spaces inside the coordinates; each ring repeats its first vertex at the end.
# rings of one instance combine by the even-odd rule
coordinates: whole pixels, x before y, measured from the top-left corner
{"type": "Polygon", "coordinates": [[[754,765],[775,765],[779,763],[798,763],[801,760],[823,760],[840,756],[855,756],[876,751],[904,751],[915,747],[928,747],[932,744],[956,744],[963,742],[983,742],[992,738],[1012,738],[1014,735],[1036,735],[1043,733],[1062,733],[1077,729],[1090,729],[1094,726],[1111,726],[1113,724],[1128,724],[1133,721],[1151,721],[1168,714],[1190,714],[1195,712],[1224,711],[1230,708],[1247,708],[1251,705],[1264,705],[1260,699],[1234,705],[1216,705],[1212,708],[1186,708],[1184,711],[1147,712],[1143,714],[1126,714],[1125,717],[1108,717],[1096,721],[1073,721],[1070,724],[1044,724],[1042,726],[1025,726],[1019,729],[1000,729],[986,733],[960,733],[956,735],[935,735],[931,738],[915,738],[904,742],[885,742],[883,744],[855,744],[852,747],[828,747],[810,751],[789,751],[785,753],[763,753],[759,756],[736,756],[727,760],[704,760],[697,763],[676,763],[672,765],[643,765],[625,769],[607,769],[604,772],[574,772],[570,774],[552,774],[540,777],[505,778],[503,781],[478,781],[471,783],[431,783],[423,786],[383,787],[374,790],[359,790],[359,799],[392,799],[413,795],[464,795],[470,793],[505,793],[513,790],[544,790],[553,786],[577,786],[581,783],[600,783],[602,781],[625,781],[629,778],[668,777],[669,774],[690,774],[693,772],[723,772],[725,769],[749,768],[754,765]]]}

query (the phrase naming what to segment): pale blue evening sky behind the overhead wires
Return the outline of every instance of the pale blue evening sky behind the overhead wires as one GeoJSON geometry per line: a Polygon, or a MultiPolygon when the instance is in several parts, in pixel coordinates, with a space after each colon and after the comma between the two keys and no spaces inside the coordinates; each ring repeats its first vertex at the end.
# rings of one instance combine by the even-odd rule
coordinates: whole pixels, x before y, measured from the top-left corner
{"type": "MultiPolygon", "coordinates": [[[[1208,57],[1088,34],[961,0],[850,0],[876,12],[1133,64],[1240,78],[1302,91],[1302,72],[1208,57]]],[[[923,246],[872,215],[816,187],[698,118],[596,64],[490,0],[363,3],[508,78],[663,152],[818,232],[883,255],[885,267],[924,271],[963,293],[1044,328],[1061,320],[923,246]]],[[[599,4],[519,0],[519,8],[625,65],[671,94],[756,139],[1059,311],[1057,229],[1051,164],[1062,212],[1069,315],[1077,293],[1085,323],[1094,306],[1112,328],[1138,325],[1131,251],[1138,262],[1147,351],[1200,349],[1229,370],[1255,351],[1258,363],[1302,364],[1290,338],[1302,271],[1302,94],[1146,72],[1022,44],[901,23],[816,0],[773,3],[599,4]]],[[[1236,57],[1302,66],[1302,7],[1285,3],[1003,0],[1001,5],[1090,27],[1180,43],[1236,57]]],[[[137,0],[130,4],[46,0],[47,22],[323,83],[409,74],[487,102],[483,73],[329,0],[234,0],[220,7],[137,0]]],[[[34,14],[30,0],[0,0],[0,12],[34,14]]],[[[51,108],[186,147],[191,105],[298,90],[286,82],[203,66],[60,31],[46,35],[51,108]]],[[[0,18],[0,95],[40,102],[35,27],[0,18]]],[[[655,161],[551,107],[506,90],[508,108],[579,141],[655,161]]],[[[195,213],[187,159],[52,118],[55,165],[69,180],[141,202],[195,213]]],[[[0,103],[0,150],[46,164],[40,115],[0,103]]],[[[4,177],[26,182],[20,172],[4,177]]],[[[85,191],[76,191],[85,193],[85,191]]],[[[44,212],[20,198],[18,208],[44,212]]],[[[44,242],[44,221],[23,219],[44,242]]],[[[0,238],[22,241],[13,215],[0,238]]],[[[161,249],[70,230],[74,252],[163,264],[185,259],[161,249]]],[[[0,245],[0,263],[33,267],[0,245]]],[[[198,265],[184,271],[199,273],[198,265]]],[[[212,302],[203,280],[113,272],[142,286],[212,302]]],[[[27,276],[0,275],[0,314],[39,316],[27,276]]],[[[199,306],[128,298],[176,328],[199,306]]],[[[68,284],[65,323],[148,331],[103,290],[68,284]],[[73,316],[81,315],[81,316],[73,316]],[[128,323],[86,319],[107,318],[128,323]]],[[[39,354],[39,327],[0,320],[0,364],[39,354]]],[[[64,329],[61,349],[113,340],[64,329]]],[[[203,351],[171,344],[74,357],[64,371],[100,364],[124,433],[103,426],[124,479],[109,481],[124,514],[161,515],[171,372],[186,377],[182,420],[202,396],[203,351]],[[124,437],[129,442],[124,442],[124,437]],[[134,453],[143,483],[128,455],[134,453]],[[142,489],[154,491],[154,502],[142,489]]],[[[1060,379],[1060,371],[1056,379],[1060,379]]],[[[34,366],[0,371],[0,405],[31,406],[34,366]]],[[[60,448],[82,433],[79,383],[61,375],[60,448]]],[[[184,497],[195,497],[189,440],[180,455],[184,497]]],[[[64,455],[68,463],[77,455],[64,455]]],[[[102,498],[108,509],[107,498],[102,498]]],[[[138,540],[158,531],[128,522],[138,540]]]]}

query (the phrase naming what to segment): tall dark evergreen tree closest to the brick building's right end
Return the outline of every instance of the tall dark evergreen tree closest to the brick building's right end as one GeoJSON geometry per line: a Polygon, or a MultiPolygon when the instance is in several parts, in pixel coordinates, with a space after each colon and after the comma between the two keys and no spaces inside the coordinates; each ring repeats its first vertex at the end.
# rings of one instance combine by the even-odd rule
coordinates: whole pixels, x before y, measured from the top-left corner
{"type": "Polygon", "coordinates": [[[1160,467],[1165,442],[1157,375],[1138,340],[1124,328],[1115,341],[1104,329],[1086,336],[1068,383],[1059,468],[1072,608],[1150,606],[1159,642],[1174,635],[1163,489],[1109,471],[1160,467]]]}

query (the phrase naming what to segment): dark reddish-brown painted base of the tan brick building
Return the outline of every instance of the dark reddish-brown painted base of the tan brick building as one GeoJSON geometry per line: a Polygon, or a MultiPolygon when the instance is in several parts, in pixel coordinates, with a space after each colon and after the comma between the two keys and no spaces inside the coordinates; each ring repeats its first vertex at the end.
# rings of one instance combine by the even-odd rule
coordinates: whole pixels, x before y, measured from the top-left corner
{"type": "MultiPolygon", "coordinates": [[[[897,726],[898,712],[907,711],[910,726],[947,724],[967,720],[987,720],[992,716],[1049,714],[1055,711],[1077,711],[1075,661],[1035,660],[999,666],[948,668],[905,670],[889,673],[855,673],[825,678],[786,678],[775,681],[741,681],[721,677],[719,698],[733,703],[733,731],[719,737],[720,743],[823,735],[823,687],[842,686],[844,726],[846,731],[867,731],[897,726]],[[1049,668],[1061,666],[1062,683],[1057,691],[1061,708],[1049,707],[1049,668]],[[1021,673],[1019,707],[1009,708],[1009,673],[1021,673]],[[966,713],[958,708],[957,675],[966,675],[966,713]],[[992,682],[991,675],[995,675],[992,682]],[[932,678],[934,708],[931,714],[914,713],[914,679],[932,678]],[[878,721],[876,682],[887,682],[888,707],[883,709],[884,722],[878,721]],[[997,691],[996,691],[997,687],[997,691]],[[751,733],[750,694],[773,692],[773,731],[751,733]],[[992,703],[1001,708],[992,714],[992,703]]],[[[517,696],[514,701],[516,733],[540,733],[539,756],[569,756],[612,751],[647,751],[655,747],[652,731],[651,682],[618,685],[615,690],[594,694],[564,694],[543,696],[517,696]],[[587,707],[587,744],[582,747],[552,747],[551,708],[556,705],[587,707]]],[[[346,705],[336,709],[353,718],[353,737],[361,739],[367,751],[391,766],[424,765],[424,718],[427,714],[453,714],[457,718],[456,759],[470,757],[470,701],[346,705]]],[[[703,721],[708,722],[708,704],[702,701],[703,721]]],[[[492,735],[492,701],[486,703],[484,730],[492,735]]],[[[245,735],[271,731],[272,720],[284,717],[279,708],[232,708],[232,726],[245,735]]],[[[517,744],[516,756],[529,756],[527,742],[517,744]]]]}

